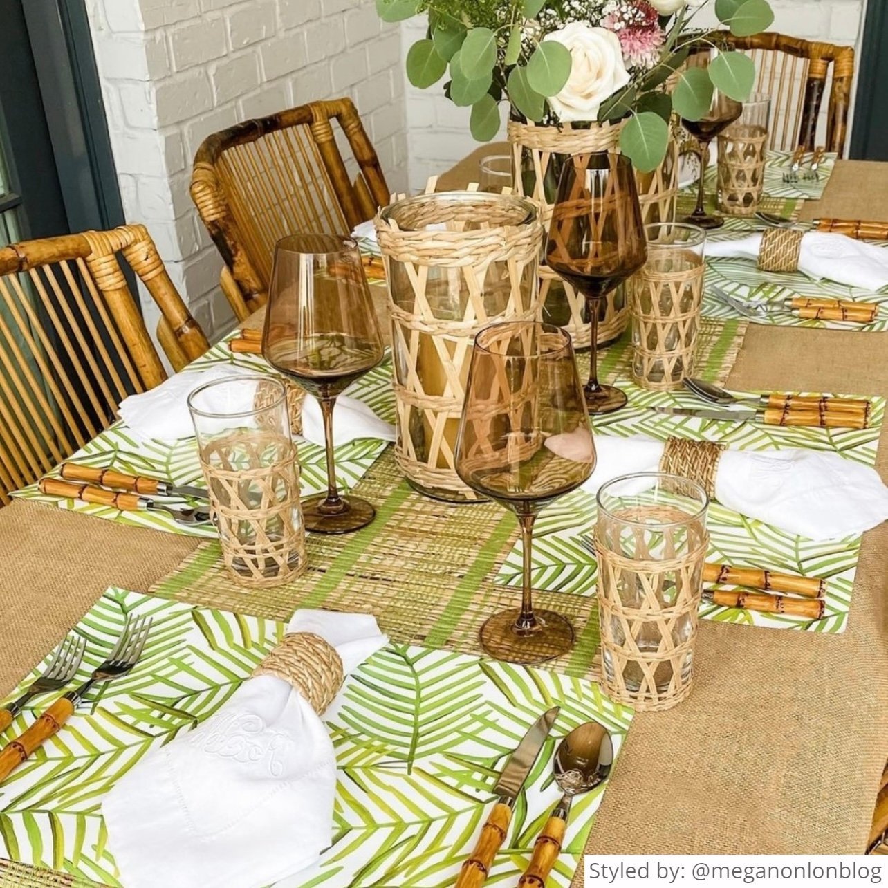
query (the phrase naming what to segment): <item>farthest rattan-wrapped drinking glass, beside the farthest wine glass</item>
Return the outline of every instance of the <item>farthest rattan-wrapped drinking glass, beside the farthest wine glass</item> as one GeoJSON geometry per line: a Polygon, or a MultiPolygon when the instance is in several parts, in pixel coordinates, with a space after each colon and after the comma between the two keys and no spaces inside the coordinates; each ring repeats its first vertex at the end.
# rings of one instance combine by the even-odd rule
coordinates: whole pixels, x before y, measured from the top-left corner
{"type": "Polygon", "coordinates": [[[753,216],[765,191],[771,97],[754,92],[743,113],[718,136],[718,209],[753,216]]]}

